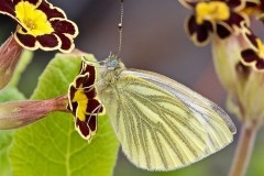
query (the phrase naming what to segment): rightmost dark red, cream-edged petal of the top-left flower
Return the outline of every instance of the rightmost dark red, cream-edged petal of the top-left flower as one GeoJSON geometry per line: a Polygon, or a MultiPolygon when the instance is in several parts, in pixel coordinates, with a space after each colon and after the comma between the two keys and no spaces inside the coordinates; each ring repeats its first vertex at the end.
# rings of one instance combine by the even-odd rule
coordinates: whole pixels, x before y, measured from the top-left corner
{"type": "Polygon", "coordinates": [[[69,34],[76,36],[78,33],[78,28],[76,24],[69,20],[65,19],[55,19],[51,20],[51,24],[55,33],[69,34]]]}

